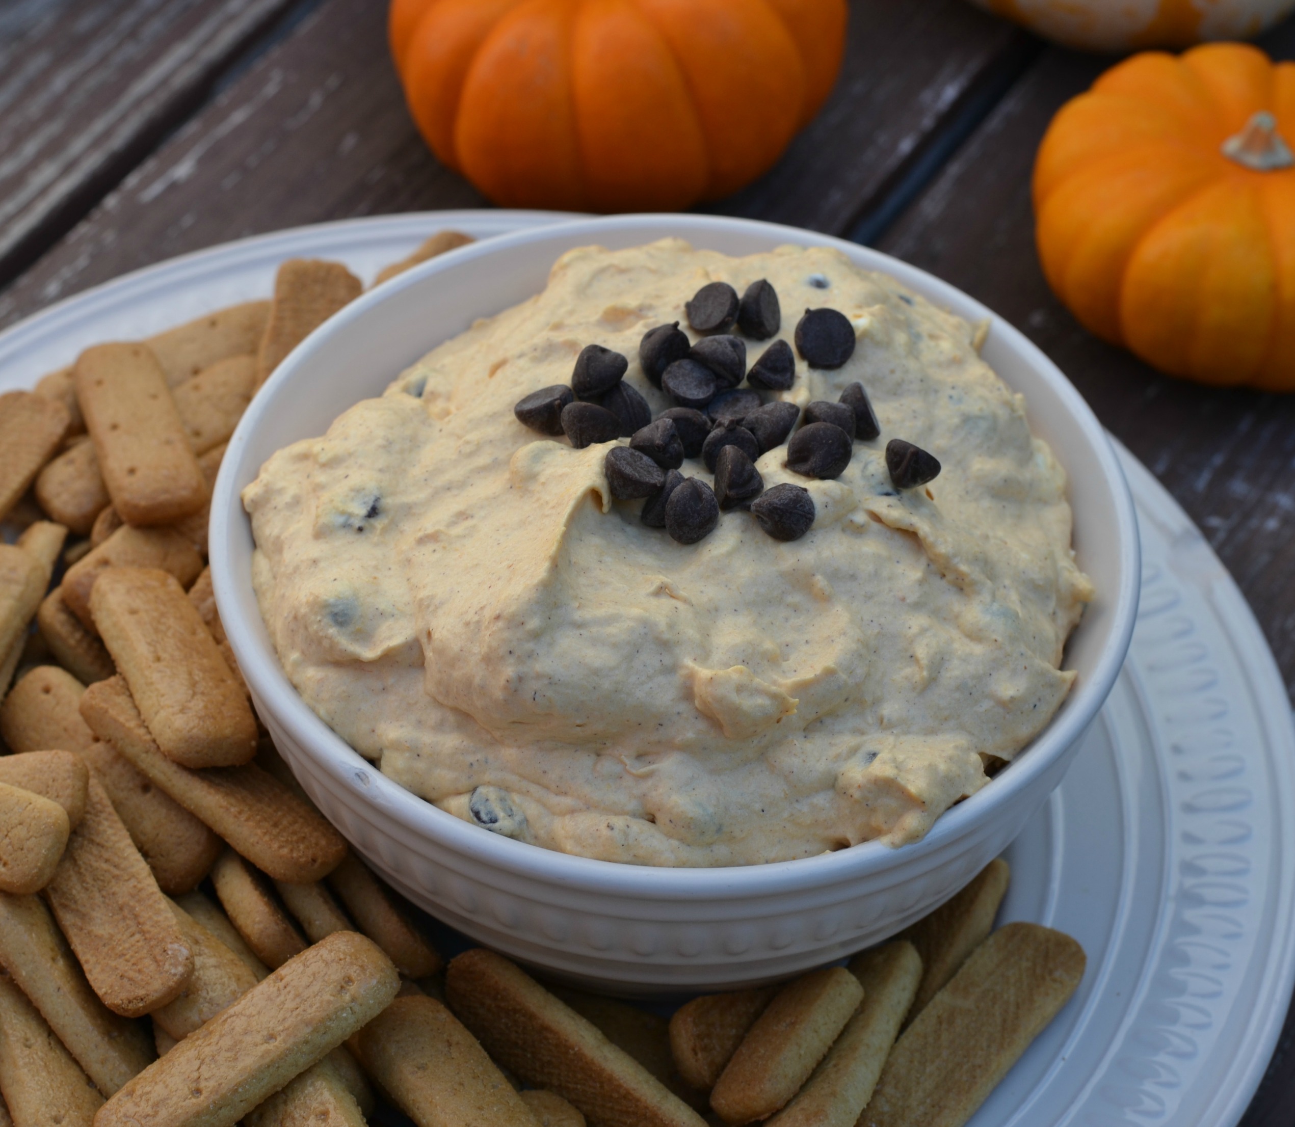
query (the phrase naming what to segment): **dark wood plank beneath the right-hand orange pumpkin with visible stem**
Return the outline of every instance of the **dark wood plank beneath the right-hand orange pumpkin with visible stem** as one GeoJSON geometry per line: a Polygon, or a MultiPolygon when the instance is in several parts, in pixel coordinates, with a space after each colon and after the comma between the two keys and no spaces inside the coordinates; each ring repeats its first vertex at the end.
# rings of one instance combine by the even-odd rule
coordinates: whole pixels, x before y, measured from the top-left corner
{"type": "MultiPolygon", "coordinates": [[[[1295,57],[1290,23],[1261,45],[1295,57]]],[[[1046,52],[909,211],[878,241],[1027,333],[1204,531],[1254,607],[1295,692],[1295,396],[1159,375],[1088,334],[1039,269],[1033,154],[1052,115],[1110,63],[1046,52]]],[[[1289,1127],[1295,1008],[1241,1127],[1289,1127]]]]}

